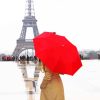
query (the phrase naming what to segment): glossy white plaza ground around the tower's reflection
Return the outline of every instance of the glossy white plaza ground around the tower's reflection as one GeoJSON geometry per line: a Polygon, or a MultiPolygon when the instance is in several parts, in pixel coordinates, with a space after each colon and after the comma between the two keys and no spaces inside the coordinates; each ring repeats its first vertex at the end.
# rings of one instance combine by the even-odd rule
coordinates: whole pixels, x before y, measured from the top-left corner
{"type": "MultiPolygon", "coordinates": [[[[84,60],[82,62],[83,67],[74,76],[61,76],[65,100],[100,100],[100,61],[84,60]]],[[[31,79],[34,68],[33,66],[30,67],[31,70],[28,70],[28,75],[31,79]]],[[[0,62],[0,100],[39,100],[39,86],[43,73],[40,72],[39,76],[36,92],[31,81],[27,81],[26,85],[30,86],[33,91],[30,96],[17,63],[0,62]]]]}

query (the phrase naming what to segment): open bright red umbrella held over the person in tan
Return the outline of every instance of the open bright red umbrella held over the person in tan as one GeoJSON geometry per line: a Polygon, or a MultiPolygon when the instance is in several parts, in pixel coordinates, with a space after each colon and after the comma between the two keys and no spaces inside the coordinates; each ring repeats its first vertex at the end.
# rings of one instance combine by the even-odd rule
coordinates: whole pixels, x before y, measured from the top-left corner
{"type": "Polygon", "coordinates": [[[55,73],[74,75],[82,66],[76,46],[55,32],[43,32],[33,39],[35,55],[55,73]]]}

